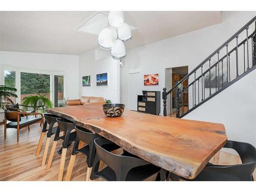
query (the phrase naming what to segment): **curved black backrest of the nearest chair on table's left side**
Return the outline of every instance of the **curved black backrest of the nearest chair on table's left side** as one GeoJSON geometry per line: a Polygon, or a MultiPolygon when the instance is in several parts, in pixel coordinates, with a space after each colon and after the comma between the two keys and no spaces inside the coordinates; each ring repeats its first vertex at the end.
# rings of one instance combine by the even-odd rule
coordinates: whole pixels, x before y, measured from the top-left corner
{"type": "Polygon", "coordinates": [[[128,172],[133,167],[150,164],[149,162],[137,157],[121,156],[107,151],[104,148],[104,145],[112,143],[108,139],[98,138],[94,140],[94,143],[98,158],[112,168],[116,175],[117,173],[120,173],[120,170],[128,172]]]}

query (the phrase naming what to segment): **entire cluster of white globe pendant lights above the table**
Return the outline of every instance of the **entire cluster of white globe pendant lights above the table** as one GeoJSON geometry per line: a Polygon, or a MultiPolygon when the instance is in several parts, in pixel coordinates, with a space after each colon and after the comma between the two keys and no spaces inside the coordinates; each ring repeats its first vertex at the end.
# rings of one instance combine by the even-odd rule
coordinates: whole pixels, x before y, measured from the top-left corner
{"type": "Polygon", "coordinates": [[[112,58],[120,60],[120,66],[123,67],[126,56],[126,48],[123,42],[132,39],[132,31],[124,23],[122,11],[110,11],[108,18],[109,26],[99,33],[98,44],[104,50],[111,50],[112,58]]]}

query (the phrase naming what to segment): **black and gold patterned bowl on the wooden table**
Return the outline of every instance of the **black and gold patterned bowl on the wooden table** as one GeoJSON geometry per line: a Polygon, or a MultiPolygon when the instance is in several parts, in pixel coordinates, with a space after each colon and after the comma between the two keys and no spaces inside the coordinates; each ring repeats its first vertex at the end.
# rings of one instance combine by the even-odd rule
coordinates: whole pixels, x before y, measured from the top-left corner
{"type": "Polygon", "coordinates": [[[120,117],[124,111],[124,104],[103,104],[104,114],[108,117],[120,117]]]}

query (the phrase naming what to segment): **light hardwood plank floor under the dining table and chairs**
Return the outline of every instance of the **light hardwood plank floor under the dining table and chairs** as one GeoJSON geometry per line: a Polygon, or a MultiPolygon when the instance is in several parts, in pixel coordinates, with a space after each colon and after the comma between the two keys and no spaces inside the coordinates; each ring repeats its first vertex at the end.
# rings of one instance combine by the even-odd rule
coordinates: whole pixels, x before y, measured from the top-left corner
{"type": "MultiPolygon", "coordinates": [[[[27,128],[20,130],[19,142],[16,142],[16,130],[7,129],[7,139],[4,140],[4,126],[0,125],[0,181],[57,181],[60,155],[57,150],[61,147],[61,141],[58,142],[54,154],[52,167],[46,170],[46,166],[41,167],[42,154],[44,152],[46,138],[44,139],[39,156],[35,156],[36,147],[39,141],[42,127],[40,123],[30,125],[30,131],[27,128]]],[[[50,147],[53,143],[51,138],[50,147]]],[[[68,148],[63,173],[65,180],[68,163],[71,156],[73,145],[68,148]]],[[[48,152],[49,157],[50,150],[48,152]]],[[[216,164],[236,164],[241,162],[235,155],[220,152],[211,159],[211,163],[216,164]]],[[[78,154],[75,160],[71,180],[86,180],[86,156],[78,154]]],[[[253,173],[256,178],[256,170],[253,173]]],[[[97,179],[95,181],[102,181],[97,179]]],[[[148,180],[155,180],[155,176],[148,180]]]]}

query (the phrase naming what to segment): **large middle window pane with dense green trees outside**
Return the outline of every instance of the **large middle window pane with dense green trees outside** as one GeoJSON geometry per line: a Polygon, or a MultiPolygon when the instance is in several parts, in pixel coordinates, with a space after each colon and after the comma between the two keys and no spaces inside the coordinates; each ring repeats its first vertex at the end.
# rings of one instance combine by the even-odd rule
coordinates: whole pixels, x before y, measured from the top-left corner
{"type": "Polygon", "coordinates": [[[44,95],[50,98],[50,75],[20,73],[20,101],[31,95],[44,95]]]}

